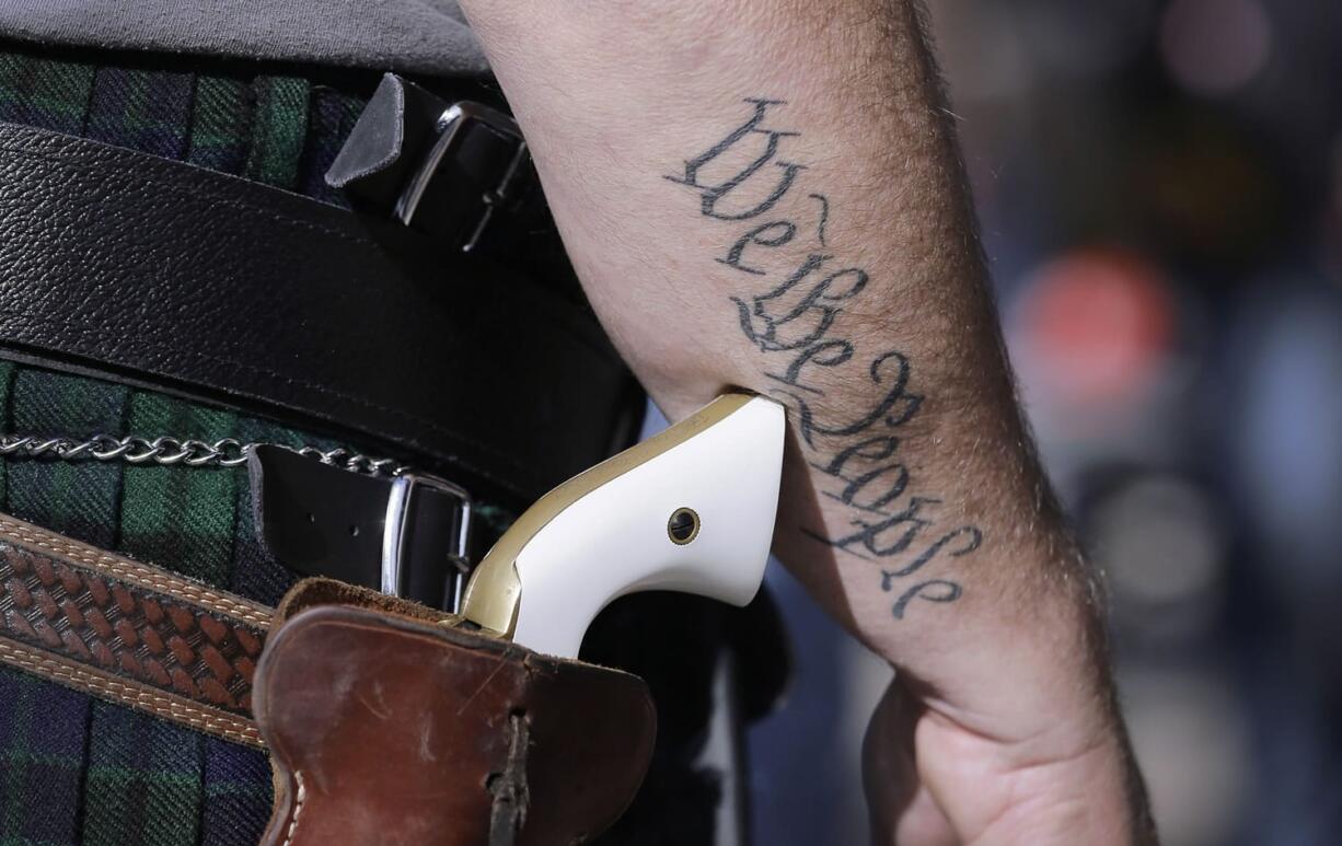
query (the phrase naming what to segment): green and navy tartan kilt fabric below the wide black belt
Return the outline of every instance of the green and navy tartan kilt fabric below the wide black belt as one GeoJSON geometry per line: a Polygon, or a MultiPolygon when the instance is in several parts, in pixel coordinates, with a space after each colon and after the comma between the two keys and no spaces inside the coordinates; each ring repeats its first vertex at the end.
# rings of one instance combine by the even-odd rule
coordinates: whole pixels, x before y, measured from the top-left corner
{"type": "MultiPolygon", "coordinates": [[[[5,432],[298,441],[229,412],[8,362],[0,414],[5,432]]],[[[291,581],[255,542],[238,468],[4,461],[0,504],[262,601],[276,601],[291,581]]],[[[263,753],[0,670],[0,842],[255,843],[268,810],[263,753]]]]}

